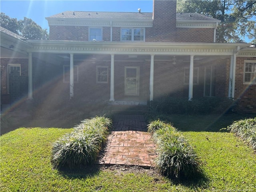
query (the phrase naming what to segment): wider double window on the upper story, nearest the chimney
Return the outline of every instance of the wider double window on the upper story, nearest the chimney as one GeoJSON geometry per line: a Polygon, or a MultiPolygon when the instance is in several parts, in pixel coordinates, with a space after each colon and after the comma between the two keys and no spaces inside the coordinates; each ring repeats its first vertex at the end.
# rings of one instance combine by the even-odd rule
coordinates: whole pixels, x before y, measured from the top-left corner
{"type": "Polygon", "coordinates": [[[144,28],[122,28],[121,41],[145,41],[144,28]]]}

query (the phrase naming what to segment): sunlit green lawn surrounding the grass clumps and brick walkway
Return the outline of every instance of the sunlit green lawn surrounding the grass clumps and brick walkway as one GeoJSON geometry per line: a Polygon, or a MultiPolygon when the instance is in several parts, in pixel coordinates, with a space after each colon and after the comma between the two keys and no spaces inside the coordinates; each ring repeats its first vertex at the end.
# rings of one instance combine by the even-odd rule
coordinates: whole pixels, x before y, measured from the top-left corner
{"type": "Polygon", "coordinates": [[[206,179],[178,184],[155,170],[54,170],[52,143],[72,130],[20,128],[2,135],[0,191],[256,191],[256,154],[231,133],[182,132],[200,156],[206,179]]]}

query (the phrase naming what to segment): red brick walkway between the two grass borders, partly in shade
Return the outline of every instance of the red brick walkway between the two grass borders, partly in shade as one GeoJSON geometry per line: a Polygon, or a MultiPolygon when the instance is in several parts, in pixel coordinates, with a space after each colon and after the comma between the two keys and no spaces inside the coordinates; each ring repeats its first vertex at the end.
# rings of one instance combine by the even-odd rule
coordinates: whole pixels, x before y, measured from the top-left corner
{"type": "Polygon", "coordinates": [[[156,148],[143,115],[116,115],[100,164],[153,167],[156,148]]]}

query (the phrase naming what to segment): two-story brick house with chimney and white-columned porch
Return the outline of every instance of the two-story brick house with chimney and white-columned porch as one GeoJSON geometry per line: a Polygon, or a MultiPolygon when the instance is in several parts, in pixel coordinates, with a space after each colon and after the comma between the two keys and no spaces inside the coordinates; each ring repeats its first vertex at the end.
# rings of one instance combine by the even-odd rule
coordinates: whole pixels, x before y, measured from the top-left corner
{"type": "Polygon", "coordinates": [[[174,0],[154,0],[153,13],[66,11],[46,19],[49,40],[24,40],[1,28],[2,102],[16,99],[14,72],[27,77],[20,89],[28,100],[42,97],[39,90],[43,98],[110,104],[220,96],[256,112],[256,48],[216,43],[220,20],[176,13],[174,0]]]}

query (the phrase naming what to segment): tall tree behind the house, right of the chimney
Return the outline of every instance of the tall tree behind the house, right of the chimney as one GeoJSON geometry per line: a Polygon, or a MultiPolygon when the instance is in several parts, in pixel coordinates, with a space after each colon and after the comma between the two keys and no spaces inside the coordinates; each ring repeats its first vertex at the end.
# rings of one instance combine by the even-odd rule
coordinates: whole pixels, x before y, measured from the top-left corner
{"type": "Polygon", "coordinates": [[[177,12],[197,12],[221,20],[216,42],[256,42],[256,0],[178,0],[177,12]]]}

